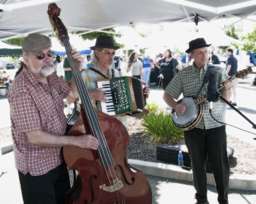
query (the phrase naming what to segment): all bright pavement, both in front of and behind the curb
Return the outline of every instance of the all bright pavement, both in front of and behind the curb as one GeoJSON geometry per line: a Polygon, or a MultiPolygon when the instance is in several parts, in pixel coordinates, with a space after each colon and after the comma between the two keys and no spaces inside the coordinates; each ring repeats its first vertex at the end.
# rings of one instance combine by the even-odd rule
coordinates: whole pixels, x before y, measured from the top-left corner
{"type": "MultiPolygon", "coordinates": [[[[155,101],[161,106],[166,106],[162,101],[163,91],[157,89],[155,86],[151,91],[150,103],[155,101]]],[[[255,117],[255,102],[256,91],[246,88],[237,89],[237,103],[238,110],[240,110],[246,117],[252,122],[256,123],[255,117]]],[[[9,118],[9,105],[6,96],[0,96],[0,128],[10,126],[9,118]],[[4,116],[4,117],[3,117],[4,116]]],[[[256,133],[252,129],[252,125],[248,123],[242,116],[231,108],[227,108],[227,123],[233,126],[240,127],[246,131],[256,133]]],[[[250,144],[256,145],[256,141],[253,140],[255,135],[238,130],[232,126],[227,125],[227,133],[229,135],[238,137],[250,144]]],[[[9,152],[0,156],[0,172],[5,172],[0,177],[0,203],[23,203],[22,195],[20,192],[17,170],[14,165],[13,152],[9,152]]],[[[153,193],[152,203],[195,203],[194,194],[195,189],[192,182],[168,179],[165,177],[146,175],[148,182],[151,185],[153,193]]],[[[207,185],[208,188],[208,200],[211,204],[217,204],[217,192],[214,185],[207,185]]],[[[234,190],[229,189],[229,203],[256,203],[256,191],[248,190],[234,190]]]]}

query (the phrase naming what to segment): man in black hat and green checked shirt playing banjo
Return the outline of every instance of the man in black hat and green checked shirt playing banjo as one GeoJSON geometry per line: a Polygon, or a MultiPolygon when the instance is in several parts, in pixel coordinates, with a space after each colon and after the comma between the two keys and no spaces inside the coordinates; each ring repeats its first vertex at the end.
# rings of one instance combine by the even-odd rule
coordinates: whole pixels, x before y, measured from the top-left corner
{"type": "MultiPolygon", "coordinates": [[[[193,104],[178,104],[177,99],[180,95],[183,93],[184,97],[196,96],[203,86],[199,92],[199,96],[201,96],[207,92],[208,85],[208,82],[203,85],[203,79],[208,69],[207,47],[211,44],[207,44],[204,38],[191,40],[188,44],[189,48],[186,53],[190,54],[191,59],[194,59],[194,63],[179,71],[176,77],[168,84],[163,94],[166,104],[175,109],[177,115],[182,116],[184,116],[185,111],[193,108],[193,104]]],[[[214,69],[217,71],[217,84],[224,82],[224,87],[220,89],[221,95],[226,100],[229,100],[233,80],[229,80],[222,67],[214,65],[214,69]]],[[[221,99],[213,103],[212,116],[222,123],[212,119],[207,100],[204,101],[203,110],[202,119],[196,127],[184,131],[185,143],[193,170],[196,203],[208,203],[205,171],[207,158],[214,173],[218,202],[228,203],[229,161],[227,157],[226,126],[223,125],[226,104],[221,99]]]]}

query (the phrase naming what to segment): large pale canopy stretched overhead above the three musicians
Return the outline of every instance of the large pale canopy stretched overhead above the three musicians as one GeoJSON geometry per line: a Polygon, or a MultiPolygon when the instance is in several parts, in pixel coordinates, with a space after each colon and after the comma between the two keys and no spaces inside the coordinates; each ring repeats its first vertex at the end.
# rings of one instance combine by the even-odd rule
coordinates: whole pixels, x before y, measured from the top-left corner
{"type": "Polygon", "coordinates": [[[195,23],[196,15],[199,23],[230,17],[242,20],[256,13],[255,0],[0,0],[0,40],[53,33],[47,14],[49,3],[61,9],[59,17],[68,32],[142,23],[195,23]]]}

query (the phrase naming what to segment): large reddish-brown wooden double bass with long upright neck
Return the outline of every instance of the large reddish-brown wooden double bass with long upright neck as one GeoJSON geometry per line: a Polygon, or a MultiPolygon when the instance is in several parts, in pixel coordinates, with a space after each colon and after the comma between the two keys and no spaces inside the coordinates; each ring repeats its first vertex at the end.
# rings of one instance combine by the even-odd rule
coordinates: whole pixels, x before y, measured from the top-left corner
{"type": "Polygon", "coordinates": [[[48,15],[57,38],[65,46],[81,104],[68,119],[67,135],[91,134],[99,140],[97,150],[64,146],[62,157],[74,172],[74,184],[66,203],[152,203],[152,191],[145,175],[129,164],[124,150],[129,136],[116,118],[96,110],[84,85],[77,61],[71,55],[66,27],[58,18],[60,9],[49,4],[48,15]]]}

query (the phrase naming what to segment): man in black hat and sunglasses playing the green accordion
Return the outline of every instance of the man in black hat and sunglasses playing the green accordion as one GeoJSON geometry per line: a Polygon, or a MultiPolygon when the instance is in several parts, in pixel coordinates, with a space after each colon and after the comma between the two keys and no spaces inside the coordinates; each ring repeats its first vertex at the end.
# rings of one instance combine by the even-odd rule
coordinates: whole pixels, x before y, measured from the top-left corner
{"type": "MultiPolygon", "coordinates": [[[[114,62],[115,50],[119,49],[119,46],[114,45],[113,38],[111,36],[99,36],[96,39],[95,46],[90,47],[93,50],[92,63],[93,69],[84,70],[83,82],[88,89],[93,106],[100,110],[100,105],[98,101],[106,102],[108,99],[105,95],[105,91],[101,91],[101,88],[96,88],[96,81],[109,78],[119,78],[120,74],[117,70],[112,69],[112,64],[114,62]]],[[[147,97],[150,94],[150,89],[146,87],[144,94],[147,97]]],[[[127,116],[116,117],[120,120],[123,125],[128,127],[127,116]]],[[[127,161],[127,148],[125,152],[125,158],[127,161]]]]}

